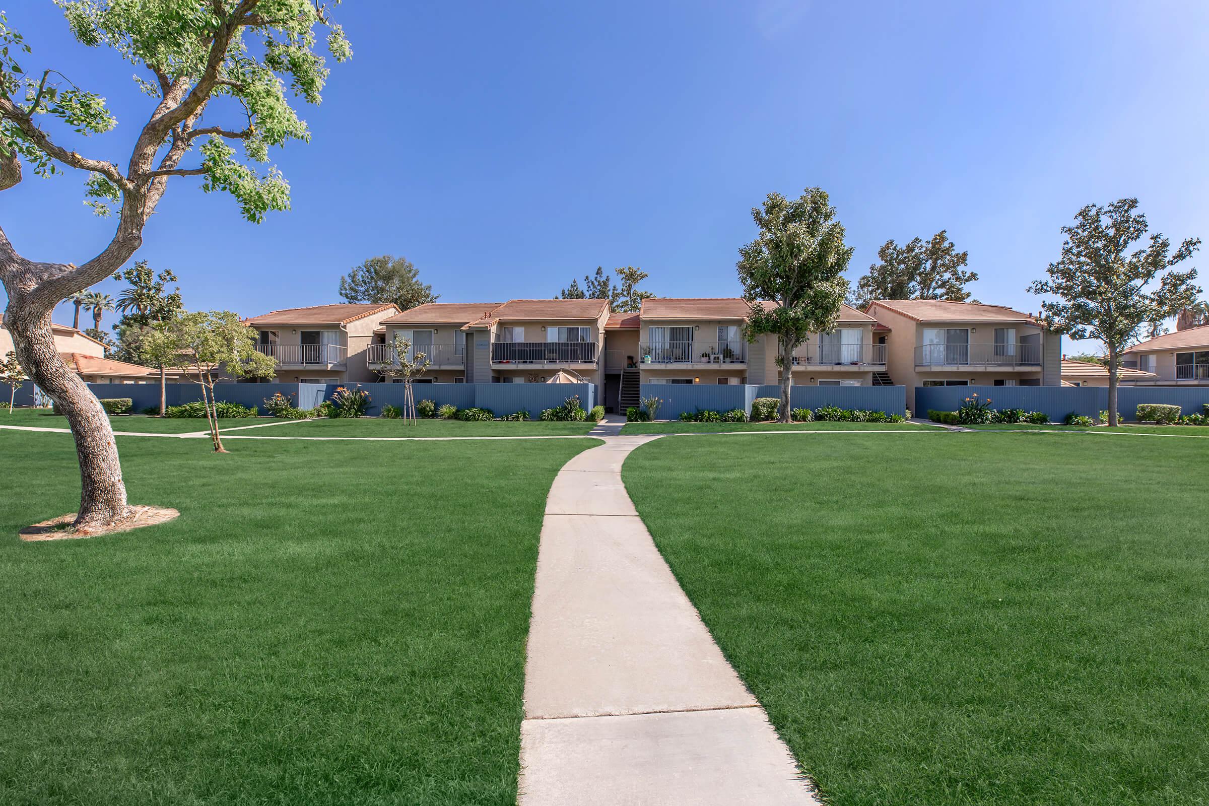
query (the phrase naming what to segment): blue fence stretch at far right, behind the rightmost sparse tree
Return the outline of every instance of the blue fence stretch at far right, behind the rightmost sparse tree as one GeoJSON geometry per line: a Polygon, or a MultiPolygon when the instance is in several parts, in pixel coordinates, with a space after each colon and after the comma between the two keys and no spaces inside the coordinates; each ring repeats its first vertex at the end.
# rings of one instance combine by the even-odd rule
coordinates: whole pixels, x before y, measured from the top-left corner
{"type": "MultiPolygon", "coordinates": [[[[1053,422],[1066,414],[1095,417],[1109,407],[1107,387],[915,387],[920,417],[930,408],[955,411],[970,395],[989,398],[993,408],[1024,408],[1045,412],[1053,422]]],[[[1117,387],[1117,411],[1134,419],[1139,404],[1180,406],[1184,413],[1201,413],[1209,404],[1209,387],[1117,387]]]]}

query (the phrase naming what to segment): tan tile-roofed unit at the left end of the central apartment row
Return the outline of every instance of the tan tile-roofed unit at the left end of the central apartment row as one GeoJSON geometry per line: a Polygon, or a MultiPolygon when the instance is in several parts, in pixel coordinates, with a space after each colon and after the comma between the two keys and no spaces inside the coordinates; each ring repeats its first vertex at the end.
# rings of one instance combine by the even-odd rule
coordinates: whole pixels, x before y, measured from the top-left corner
{"type": "Polygon", "coordinates": [[[401,313],[391,303],[318,305],[272,311],[248,319],[256,349],[277,360],[278,383],[369,383],[377,379],[368,353],[383,319],[401,313]]]}

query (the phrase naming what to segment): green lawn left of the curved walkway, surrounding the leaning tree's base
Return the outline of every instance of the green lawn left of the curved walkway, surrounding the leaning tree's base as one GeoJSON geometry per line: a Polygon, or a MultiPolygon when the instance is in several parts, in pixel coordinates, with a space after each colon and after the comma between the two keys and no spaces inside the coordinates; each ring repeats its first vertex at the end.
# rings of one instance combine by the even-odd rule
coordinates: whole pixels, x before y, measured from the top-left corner
{"type": "Polygon", "coordinates": [[[0,802],[514,804],[542,512],[592,445],[132,437],[180,518],[25,544],[75,450],[0,431],[0,802]]]}

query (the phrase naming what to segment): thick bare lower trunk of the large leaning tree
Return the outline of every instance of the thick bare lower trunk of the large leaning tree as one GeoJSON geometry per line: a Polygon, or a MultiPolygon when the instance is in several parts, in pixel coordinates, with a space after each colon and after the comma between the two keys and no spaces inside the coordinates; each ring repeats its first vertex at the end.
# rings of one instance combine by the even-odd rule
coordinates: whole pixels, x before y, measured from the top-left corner
{"type": "Polygon", "coordinates": [[[5,325],[22,367],[68,419],[80,459],[80,511],[75,526],[103,527],[131,515],[109,417],[80,376],[59,358],[50,312],[30,320],[8,306],[5,325]]]}

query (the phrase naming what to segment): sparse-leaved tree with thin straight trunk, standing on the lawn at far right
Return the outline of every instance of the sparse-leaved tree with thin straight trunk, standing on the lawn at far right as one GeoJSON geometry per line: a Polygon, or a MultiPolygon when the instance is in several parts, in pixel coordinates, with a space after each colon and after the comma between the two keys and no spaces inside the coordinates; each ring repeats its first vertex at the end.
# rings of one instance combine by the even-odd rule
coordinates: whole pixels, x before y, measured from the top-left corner
{"type": "Polygon", "coordinates": [[[1170,242],[1156,232],[1144,249],[1128,251],[1149,228],[1136,209],[1135,198],[1081,209],[1075,224],[1062,228],[1066,239],[1058,261],[1046,269],[1048,279],[1029,285],[1032,294],[1058,297],[1041,303],[1046,327],[1071,338],[1098,338],[1107,348],[1109,425],[1117,424],[1121,350],[1145,323],[1174,317],[1201,292],[1192,282],[1197,269],[1172,271],[1201,247],[1199,238],[1186,239],[1173,253],[1170,242]]]}

